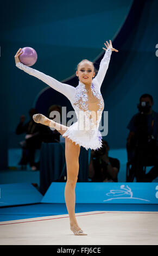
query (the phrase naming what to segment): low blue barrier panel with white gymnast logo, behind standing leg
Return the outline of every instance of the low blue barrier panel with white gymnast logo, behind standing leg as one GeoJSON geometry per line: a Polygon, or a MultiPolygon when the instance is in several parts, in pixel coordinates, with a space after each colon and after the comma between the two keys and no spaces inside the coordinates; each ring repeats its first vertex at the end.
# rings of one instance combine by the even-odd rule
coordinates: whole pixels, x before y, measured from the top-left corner
{"type": "MultiPolygon", "coordinates": [[[[41,203],[64,203],[65,182],[52,182],[41,203]]],[[[158,204],[158,184],[77,182],[76,203],[158,204]]]]}

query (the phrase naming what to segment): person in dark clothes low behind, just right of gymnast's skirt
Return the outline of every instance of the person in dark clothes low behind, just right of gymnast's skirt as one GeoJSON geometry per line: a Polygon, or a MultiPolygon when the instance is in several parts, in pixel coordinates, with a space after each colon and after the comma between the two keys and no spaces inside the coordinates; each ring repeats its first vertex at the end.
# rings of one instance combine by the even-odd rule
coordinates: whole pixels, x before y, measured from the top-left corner
{"type": "Polygon", "coordinates": [[[109,156],[108,142],[102,142],[102,148],[91,151],[89,178],[92,182],[117,182],[119,160],[109,156]]]}

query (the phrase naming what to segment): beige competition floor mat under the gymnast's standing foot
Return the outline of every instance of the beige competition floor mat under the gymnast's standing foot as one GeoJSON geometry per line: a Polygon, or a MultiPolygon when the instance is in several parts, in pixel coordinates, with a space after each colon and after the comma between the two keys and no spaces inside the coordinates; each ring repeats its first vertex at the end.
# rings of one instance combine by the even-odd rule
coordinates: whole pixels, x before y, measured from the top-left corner
{"type": "Polygon", "coordinates": [[[76,214],[87,236],[75,236],[68,215],[0,222],[1,245],[158,245],[158,211],[76,214]]]}

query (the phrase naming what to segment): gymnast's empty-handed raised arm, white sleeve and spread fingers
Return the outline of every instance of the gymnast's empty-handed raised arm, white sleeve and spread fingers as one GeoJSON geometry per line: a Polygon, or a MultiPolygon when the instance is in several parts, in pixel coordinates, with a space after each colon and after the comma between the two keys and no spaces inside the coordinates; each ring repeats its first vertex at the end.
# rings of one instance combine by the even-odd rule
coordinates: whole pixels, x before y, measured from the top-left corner
{"type": "Polygon", "coordinates": [[[108,70],[108,66],[109,66],[109,62],[110,62],[110,57],[111,57],[111,52],[112,51],[118,52],[118,50],[116,50],[115,48],[112,47],[111,40],[110,40],[110,44],[109,44],[108,41],[106,41],[106,44],[104,42],[104,45],[106,46],[106,49],[103,47],[103,50],[105,50],[106,52],[104,54],[103,59],[100,62],[98,74],[94,78],[95,80],[97,80],[97,83],[99,84],[99,89],[102,86],[104,77],[106,75],[106,71],[108,70]]]}

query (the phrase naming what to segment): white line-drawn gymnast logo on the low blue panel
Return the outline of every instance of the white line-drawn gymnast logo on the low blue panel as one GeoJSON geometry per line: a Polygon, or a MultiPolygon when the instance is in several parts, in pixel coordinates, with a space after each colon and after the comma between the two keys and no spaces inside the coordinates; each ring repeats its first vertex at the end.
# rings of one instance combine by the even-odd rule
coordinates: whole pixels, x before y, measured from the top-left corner
{"type": "Polygon", "coordinates": [[[131,188],[129,186],[125,187],[125,185],[121,185],[120,188],[121,188],[120,190],[110,190],[109,193],[106,193],[106,196],[109,196],[109,197],[112,197],[112,198],[106,199],[103,202],[110,201],[110,200],[113,200],[113,199],[137,199],[137,200],[143,200],[143,201],[150,202],[147,199],[133,197],[133,193],[132,193],[131,188]],[[122,196],[124,196],[124,197],[122,197],[122,196]]]}

